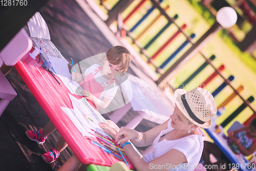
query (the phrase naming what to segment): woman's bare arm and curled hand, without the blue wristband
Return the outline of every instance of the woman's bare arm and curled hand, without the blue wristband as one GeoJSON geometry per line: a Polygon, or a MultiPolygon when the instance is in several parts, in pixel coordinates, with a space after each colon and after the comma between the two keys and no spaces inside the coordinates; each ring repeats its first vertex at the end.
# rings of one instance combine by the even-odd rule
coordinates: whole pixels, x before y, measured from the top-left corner
{"type": "Polygon", "coordinates": [[[168,120],[164,123],[153,127],[153,129],[148,130],[145,133],[140,133],[135,130],[127,129],[126,127],[121,127],[119,132],[115,136],[117,143],[123,144],[124,142],[131,140],[136,146],[146,146],[153,143],[155,138],[161,133],[161,131],[167,129],[168,120]]]}

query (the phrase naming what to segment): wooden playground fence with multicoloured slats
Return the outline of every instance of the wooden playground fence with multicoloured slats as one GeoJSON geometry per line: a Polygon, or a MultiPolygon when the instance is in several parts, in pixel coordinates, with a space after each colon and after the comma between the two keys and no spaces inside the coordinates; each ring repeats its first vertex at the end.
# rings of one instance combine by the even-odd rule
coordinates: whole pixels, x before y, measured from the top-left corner
{"type": "MultiPolygon", "coordinates": [[[[229,89],[231,88],[232,93],[228,94],[227,97],[223,97],[221,103],[217,105],[218,110],[226,108],[237,98],[242,100],[242,104],[238,108],[234,109],[233,112],[225,112],[222,114],[222,119],[218,118],[216,122],[227,130],[234,121],[238,120],[237,116],[239,116],[247,107],[251,110],[251,116],[247,118],[247,120],[243,121],[243,124],[248,125],[250,121],[255,118],[256,112],[251,105],[254,97],[250,96],[247,99],[242,97],[241,94],[245,91],[245,86],[241,84],[238,86],[238,88],[236,88],[232,85],[232,80],[236,79],[236,75],[230,75],[228,78],[226,78],[222,74],[222,71],[225,69],[225,63],[221,63],[221,65],[216,66],[214,62],[212,62],[215,60],[215,58],[218,58],[218,56],[212,55],[207,57],[201,52],[202,42],[205,41],[206,38],[211,38],[212,35],[210,34],[212,34],[212,32],[217,32],[221,29],[217,22],[201,38],[195,41],[194,39],[197,35],[192,33],[188,36],[187,33],[185,33],[184,30],[188,27],[186,23],[183,23],[181,27],[178,26],[176,20],[179,19],[179,14],[170,17],[168,11],[172,10],[170,7],[171,5],[163,6],[164,1],[151,0],[149,2],[141,0],[137,1],[136,4],[132,4],[133,1],[120,0],[117,1],[113,7],[109,7],[107,5],[108,1],[102,0],[100,2],[101,6],[108,9],[109,16],[108,19],[105,20],[105,23],[111,27],[114,20],[118,18],[117,25],[119,30],[116,31],[117,34],[120,33],[120,37],[122,39],[127,39],[127,41],[130,41],[130,44],[134,47],[134,49],[138,49],[138,53],[140,53],[142,59],[148,63],[148,68],[151,68],[155,73],[154,77],[152,76],[152,79],[159,85],[160,88],[167,91],[174,91],[177,88],[191,89],[191,87],[201,87],[207,89],[207,87],[215,84],[215,87],[217,88],[214,91],[211,91],[211,93],[216,98],[221,94],[222,91],[224,91],[225,88],[228,87],[229,89]],[[151,3],[151,5],[149,5],[149,3],[151,3]],[[123,19],[120,19],[122,15],[121,12],[123,12],[126,8],[129,8],[130,12],[128,12],[123,19]],[[137,13],[141,14],[138,16],[137,13]],[[153,15],[153,13],[155,13],[155,15],[153,15]],[[167,20],[167,24],[158,26],[159,31],[155,33],[155,35],[151,35],[150,30],[156,28],[156,25],[161,18],[165,18],[165,20],[167,20]],[[130,20],[135,20],[137,22],[134,22],[135,24],[133,26],[129,25],[129,27],[127,27],[126,24],[128,24],[130,20]],[[144,27],[141,27],[142,25],[144,27]],[[175,27],[176,29],[176,32],[173,31],[174,34],[172,35],[166,33],[166,30],[169,30],[170,27],[175,27]],[[165,38],[166,40],[161,42],[162,46],[160,48],[155,48],[154,43],[156,44],[156,42],[159,42],[163,36],[167,37],[167,35],[168,38],[165,38]],[[145,37],[150,38],[147,38],[146,43],[145,40],[142,43],[145,37]],[[179,42],[179,46],[174,50],[174,52],[168,54],[164,59],[162,58],[163,54],[166,56],[166,50],[170,47],[170,45],[177,44],[177,39],[183,40],[184,38],[185,40],[181,43],[179,42]],[[152,52],[152,49],[154,48],[155,50],[153,54],[148,53],[150,51],[152,52]],[[195,49],[197,49],[197,51],[195,51],[195,49]],[[198,55],[204,58],[203,64],[198,65],[195,71],[187,74],[187,78],[180,83],[178,87],[174,87],[173,82],[170,81],[171,78],[177,76],[177,73],[180,73],[185,66],[188,65],[189,61],[193,60],[193,58],[198,55]],[[210,71],[213,69],[214,72],[208,72],[209,68],[211,68],[210,71]],[[206,79],[202,82],[195,82],[195,77],[202,74],[207,75],[205,76],[206,79]],[[158,79],[155,79],[156,76],[158,79]],[[222,82],[216,83],[215,80],[217,78],[221,78],[222,82]],[[193,84],[193,86],[190,86],[189,84],[193,84]]],[[[149,74],[149,76],[151,75],[149,74]]]]}

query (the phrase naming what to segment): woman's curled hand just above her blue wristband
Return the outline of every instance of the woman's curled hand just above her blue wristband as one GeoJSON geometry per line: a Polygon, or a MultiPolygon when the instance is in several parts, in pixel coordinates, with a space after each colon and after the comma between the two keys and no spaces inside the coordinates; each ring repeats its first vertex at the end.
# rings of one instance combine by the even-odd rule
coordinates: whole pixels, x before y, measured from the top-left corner
{"type": "Polygon", "coordinates": [[[119,132],[115,136],[117,144],[123,144],[130,139],[138,137],[139,133],[135,130],[127,129],[126,127],[121,127],[119,132]]]}

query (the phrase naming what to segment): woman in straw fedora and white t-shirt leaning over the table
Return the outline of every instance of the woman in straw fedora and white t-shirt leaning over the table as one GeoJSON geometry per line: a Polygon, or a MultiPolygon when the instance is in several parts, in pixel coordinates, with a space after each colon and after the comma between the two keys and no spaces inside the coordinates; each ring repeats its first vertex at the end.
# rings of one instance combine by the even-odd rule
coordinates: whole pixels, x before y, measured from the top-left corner
{"type": "MultiPolygon", "coordinates": [[[[211,125],[210,118],[217,112],[214,97],[207,90],[196,88],[189,92],[178,89],[174,98],[176,105],[170,119],[145,133],[125,127],[116,133],[108,124],[100,124],[102,129],[107,130],[105,133],[115,137],[117,143],[122,145],[136,170],[192,171],[199,163],[205,138],[199,127],[208,128],[211,125]],[[136,146],[153,143],[153,152],[141,157],[129,140],[136,146]]],[[[113,127],[118,129],[116,125],[113,127]]],[[[67,166],[65,163],[61,170],[68,170],[67,166]]]]}

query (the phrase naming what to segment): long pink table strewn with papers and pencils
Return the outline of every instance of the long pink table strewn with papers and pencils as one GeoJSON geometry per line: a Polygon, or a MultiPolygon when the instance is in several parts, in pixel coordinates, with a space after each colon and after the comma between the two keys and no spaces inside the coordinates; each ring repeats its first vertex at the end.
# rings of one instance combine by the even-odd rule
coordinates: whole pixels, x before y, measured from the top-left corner
{"type": "MultiPolygon", "coordinates": [[[[32,51],[33,48],[30,52],[32,53],[32,51]]],[[[120,161],[103,152],[99,147],[91,144],[87,138],[82,136],[69,117],[61,110],[60,106],[73,109],[69,98],[69,94],[71,93],[58,77],[56,78],[61,83],[61,86],[49,72],[41,67],[42,61],[38,63],[38,57],[37,55],[37,60],[34,60],[29,54],[26,54],[14,67],[77,158],[83,164],[104,166],[111,166],[113,163],[120,161]]],[[[82,98],[82,96],[78,95],[73,96],[78,99],[82,98]]],[[[90,104],[92,103],[90,102],[90,104]]],[[[127,162],[131,163],[127,157],[125,158],[127,162]]],[[[129,165],[131,169],[134,169],[133,165],[129,165]]]]}

